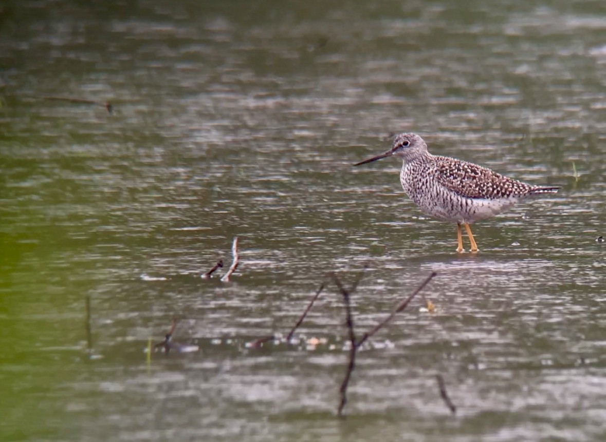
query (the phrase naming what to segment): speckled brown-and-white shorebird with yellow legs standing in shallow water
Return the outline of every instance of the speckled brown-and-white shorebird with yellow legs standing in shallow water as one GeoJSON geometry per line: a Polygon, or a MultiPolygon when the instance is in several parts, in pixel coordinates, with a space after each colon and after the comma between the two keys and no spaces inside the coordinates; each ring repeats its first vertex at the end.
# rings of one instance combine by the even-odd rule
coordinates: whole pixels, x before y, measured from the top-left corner
{"type": "Polygon", "coordinates": [[[459,253],[464,251],[461,226],[465,226],[471,251],[477,252],[471,223],[493,217],[525,197],[559,190],[523,183],[467,161],[432,155],[425,141],[414,133],[397,135],[390,150],[355,166],[393,155],[402,159],[400,182],[410,199],[424,213],[457,223],[459,253]]]}

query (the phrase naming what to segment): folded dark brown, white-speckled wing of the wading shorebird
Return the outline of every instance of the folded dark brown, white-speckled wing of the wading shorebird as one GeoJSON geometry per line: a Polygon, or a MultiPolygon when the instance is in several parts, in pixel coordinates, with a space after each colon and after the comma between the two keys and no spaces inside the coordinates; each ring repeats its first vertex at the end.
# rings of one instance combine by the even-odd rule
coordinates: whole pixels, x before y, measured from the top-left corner
{"type": "Polygon", "coordinates": [[[438,157],[435,174],[440,185],[466,198],[523,196],[533,188],[488,168],[448,157],[438,157]]]}

